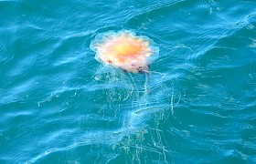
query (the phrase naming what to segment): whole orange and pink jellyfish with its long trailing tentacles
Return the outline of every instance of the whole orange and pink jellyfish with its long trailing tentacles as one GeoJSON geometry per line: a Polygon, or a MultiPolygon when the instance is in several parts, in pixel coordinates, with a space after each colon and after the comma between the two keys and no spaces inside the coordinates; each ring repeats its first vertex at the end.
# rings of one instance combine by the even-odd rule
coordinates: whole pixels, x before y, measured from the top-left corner
{"type": "MultiPolygon", "coordinates": [[[[100,121],[107,122],[102,132],[90,134],[88,140],[112,144],[116,152],[127,153],[131,159],[138,158],[137,163],[144,158],[145,151],[155,152],[157,159],[165,159],[165,153],[170,151],[164,146],[163,130],[159,127],[165,122],[165,109],[171,107],[173,112],[175,98],[165,74],[149,70],[149,65],[158,57],[159,48],[146,36],[121,30],[98,34],[91,41],[91,49],[103,66],[114,69],[102,67],[96,71],[95,80],[101,80],[101,86],[95,89],[93,97],[95,112],[101,115],[100,121]],[[140,72],[143,74],[138,74],[140,72]],[[105,131],[109,126],[111,129],[105,131]]],[[[98,83],[95,85],[98,87],[98,83]]],[[[117,155],[108,161],[118,160],[117,155]]]]}

